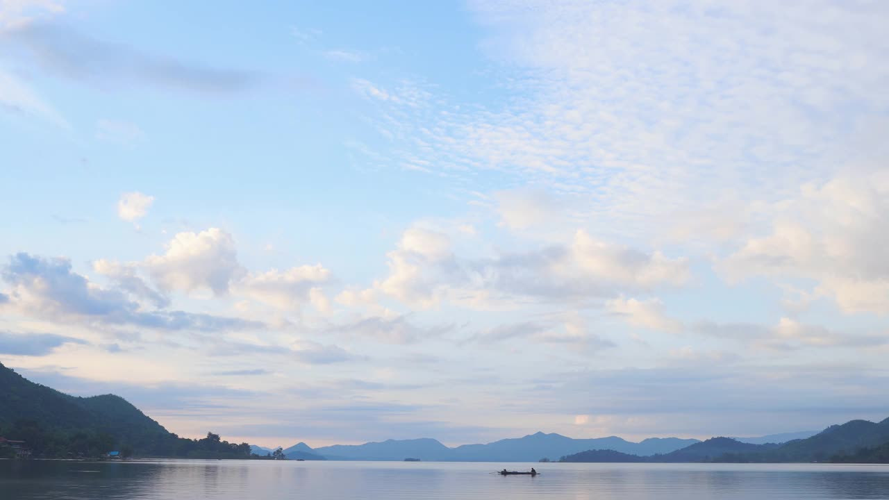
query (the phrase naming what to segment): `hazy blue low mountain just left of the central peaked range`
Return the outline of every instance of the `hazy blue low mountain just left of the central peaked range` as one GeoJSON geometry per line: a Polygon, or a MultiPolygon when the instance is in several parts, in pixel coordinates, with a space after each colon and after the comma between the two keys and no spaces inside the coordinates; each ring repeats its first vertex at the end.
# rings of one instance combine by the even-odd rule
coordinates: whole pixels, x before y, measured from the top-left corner
{"type": "MultiPolygon", "coordinates": [[[[437,440],[385,440],[363,445],[333,445],[314,453],[332,460],[397,460],[419,458],[424,462],[453,460],[453,450],[437,440]]],[[[288,455],[289,457],[289,455],[288,455]]]]}

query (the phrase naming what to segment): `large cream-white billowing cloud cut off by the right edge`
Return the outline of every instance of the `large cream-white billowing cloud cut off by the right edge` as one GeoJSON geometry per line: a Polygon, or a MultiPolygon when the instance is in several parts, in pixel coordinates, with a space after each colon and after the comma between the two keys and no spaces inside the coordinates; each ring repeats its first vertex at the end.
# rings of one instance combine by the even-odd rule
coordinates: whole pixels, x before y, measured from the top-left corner
{"type": "Polygon", "coordinates": [[[765,275],[812,280],[849,313],[889,313],[889,175],[806,184],[773,208],[769,232],[717,268],[732,281],[765,275]]]}

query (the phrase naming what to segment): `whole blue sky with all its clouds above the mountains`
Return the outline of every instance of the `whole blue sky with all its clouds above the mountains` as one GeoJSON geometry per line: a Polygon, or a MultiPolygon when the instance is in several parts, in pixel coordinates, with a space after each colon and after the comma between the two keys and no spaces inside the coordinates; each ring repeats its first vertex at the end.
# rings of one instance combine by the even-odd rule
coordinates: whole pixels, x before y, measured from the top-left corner
{"type": "Polygon", "coordinates": [[[0,362],[264,446],[882,420],[887,23],[0,0],[0,362]]]}

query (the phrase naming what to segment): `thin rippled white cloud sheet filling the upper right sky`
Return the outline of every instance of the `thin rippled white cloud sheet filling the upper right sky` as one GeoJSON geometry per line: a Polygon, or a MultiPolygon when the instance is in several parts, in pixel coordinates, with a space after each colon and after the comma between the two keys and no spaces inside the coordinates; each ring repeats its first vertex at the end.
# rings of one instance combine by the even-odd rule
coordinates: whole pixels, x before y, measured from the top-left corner
{"type": "MultiPolygon", "coordinates": [[[[505,98],[466,102],[426,85],[428,106],[407,109],[391,85],[356,82],[380,104],[375,123],[395,144],[376,163],[461,185],[495,171],[571,193],[571,211],[595,221],[597,234],[727,240],[748,221],[719,198],[781,199],[801,181],[828,178],[862,146],[885,149],[866,139],[889,108],[884,3],[469,9],[488,34],[485,52],[502,63],[492,87],[505,98]],[[731,220],[718,223],[701,206],[731,220]]],[[[510,213],[504,222],[528,223],[510,213]]]]}

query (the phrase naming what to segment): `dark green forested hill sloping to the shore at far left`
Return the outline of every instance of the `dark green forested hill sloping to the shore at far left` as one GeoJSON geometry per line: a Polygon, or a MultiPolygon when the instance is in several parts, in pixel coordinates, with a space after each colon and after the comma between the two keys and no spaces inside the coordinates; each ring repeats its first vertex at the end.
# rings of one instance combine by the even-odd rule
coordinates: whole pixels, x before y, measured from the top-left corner
{"type": "Polygon", "coordinates": [[[0,363],[0,436],[24,440],[36,456],[250,457],[250,446],[208,434],[186,440],[113,394],[77,398],[33,383],[0,363]]]}

